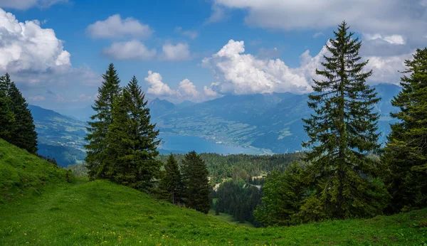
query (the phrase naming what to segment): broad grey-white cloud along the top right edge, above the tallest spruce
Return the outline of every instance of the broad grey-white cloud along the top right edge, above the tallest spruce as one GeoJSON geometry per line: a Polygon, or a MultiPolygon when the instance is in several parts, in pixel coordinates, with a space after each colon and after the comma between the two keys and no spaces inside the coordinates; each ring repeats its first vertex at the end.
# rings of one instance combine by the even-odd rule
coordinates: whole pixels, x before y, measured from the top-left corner
{"type": "Polygon", "coordinates": [[[213,6],[244,9],[246,23],[263,28],[336,28],[345,20],[352,31],[400,33],[418,44],[427,34],[425,0],[214,0],[213,6]]]}

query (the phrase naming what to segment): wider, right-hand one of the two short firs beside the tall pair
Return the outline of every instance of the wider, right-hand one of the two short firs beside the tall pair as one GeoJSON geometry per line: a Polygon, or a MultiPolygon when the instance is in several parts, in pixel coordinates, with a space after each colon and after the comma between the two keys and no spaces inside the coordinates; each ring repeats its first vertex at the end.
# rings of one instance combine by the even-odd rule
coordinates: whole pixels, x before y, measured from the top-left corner
{"type": "Polygon", "coordinates": [[[208,213],[209,179],[206,164],[196,151],[184,155],[182,160],[182,177],[184,181],[184,203],[203,213],[208,213]]]}

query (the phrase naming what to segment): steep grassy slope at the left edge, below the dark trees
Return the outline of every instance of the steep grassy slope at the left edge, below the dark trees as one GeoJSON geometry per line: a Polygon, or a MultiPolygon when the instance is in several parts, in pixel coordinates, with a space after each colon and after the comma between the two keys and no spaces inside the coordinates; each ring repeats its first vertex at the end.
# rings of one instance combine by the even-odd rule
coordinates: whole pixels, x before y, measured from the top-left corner
{"type": "Polygon", "coordinates": [[[38,194],[46,184],[61,182],[65,182],[64,169],[0,139],[0,203],[38,194]]]}

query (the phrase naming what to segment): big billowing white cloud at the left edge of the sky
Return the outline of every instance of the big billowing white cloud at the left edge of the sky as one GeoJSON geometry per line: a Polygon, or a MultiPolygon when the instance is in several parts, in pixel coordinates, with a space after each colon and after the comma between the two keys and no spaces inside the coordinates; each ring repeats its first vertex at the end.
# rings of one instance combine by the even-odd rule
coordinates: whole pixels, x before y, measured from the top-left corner
{"type": "Polygon", "coordinates": [[[46,72],[68,67],[70,53],[53,29],[36,21],[19,22],[0,9],[0,70],[9,73],[46,72]]]}

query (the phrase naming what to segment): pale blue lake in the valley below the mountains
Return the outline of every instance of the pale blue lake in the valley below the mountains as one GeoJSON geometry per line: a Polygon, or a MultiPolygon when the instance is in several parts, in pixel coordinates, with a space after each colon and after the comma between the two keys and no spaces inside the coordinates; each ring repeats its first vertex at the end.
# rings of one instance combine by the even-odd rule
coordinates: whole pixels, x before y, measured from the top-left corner
{"type": "Polygon", "coordinates": [[[245,148],[241,146],[228,146],[224,144],[215,144],[201,137],[179,136],[159,134],[162,139],[162,149],[167,151],[197,153],[216,153],[216,154],[261,154],[262,151],[257,149],[245,148]]]}

